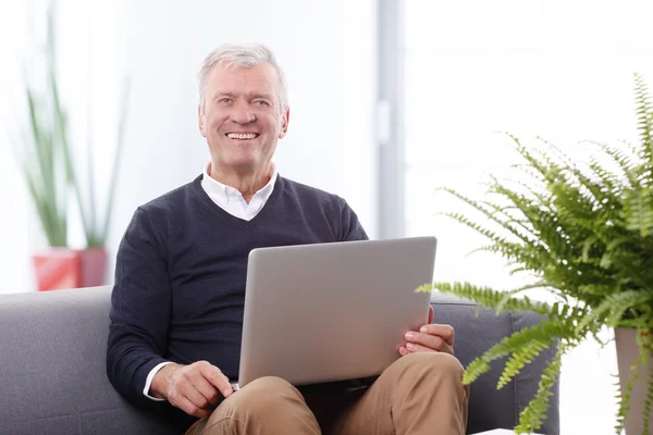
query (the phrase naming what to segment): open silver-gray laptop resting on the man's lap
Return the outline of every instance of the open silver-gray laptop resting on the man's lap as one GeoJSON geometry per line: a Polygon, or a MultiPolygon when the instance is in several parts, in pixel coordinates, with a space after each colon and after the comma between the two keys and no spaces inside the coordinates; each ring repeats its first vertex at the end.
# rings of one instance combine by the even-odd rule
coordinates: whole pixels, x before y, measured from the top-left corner
{"type": "Polygon", "coordinates": [[[433,282],[435,247],[409,237],[254,249],[235,386],[381,374],[428,321],[431,295],[415,289],[433,282]]]}

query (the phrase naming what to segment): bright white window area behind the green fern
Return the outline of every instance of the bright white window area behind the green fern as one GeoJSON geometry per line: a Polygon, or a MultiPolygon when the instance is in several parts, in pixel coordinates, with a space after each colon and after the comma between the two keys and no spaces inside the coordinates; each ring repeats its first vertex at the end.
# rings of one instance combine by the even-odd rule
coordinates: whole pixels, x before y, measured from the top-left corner
{"type": "MultiPolygon", "coordinates": [[[[439,238],[438,281],[522,284],[504,261],[467,257],[484,240],[440,211],[466,211],[448,186],[482,195],[517,156],[508,132],[583,158],[578,141],[637,140],[633,73],[653,88],[653,4],[601,0],[404,1],[405,223],[439,238]]],[[[546,295],[539,295],[546,298],[546,295]]],[[[609,332],[606,332],[609,336],[609,332]]],[[[562,433],[614,433],[614,348],[564,361],[562,433]]]]}

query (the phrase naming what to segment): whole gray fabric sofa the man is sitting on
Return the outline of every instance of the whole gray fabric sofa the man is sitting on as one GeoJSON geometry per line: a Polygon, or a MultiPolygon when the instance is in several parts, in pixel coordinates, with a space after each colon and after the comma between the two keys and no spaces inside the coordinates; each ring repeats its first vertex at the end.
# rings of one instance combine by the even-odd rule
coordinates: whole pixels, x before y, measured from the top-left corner
{"type": "MultiPolygon", "coordinates": [[[[123,400],[104,369],[110,287],[0,296],[0,434],[172,434],[153,414],[123,400]]],[[[435,296],[435,321],[456,330],[464,364],[537,315],[495,316],[435,296]]],[[[551,358],[552,352],[543,356],[551,358]]],[[[496,390],[502,365],[471,385],[468,433],[514,427],[538,388],[543,359],[496,390]]],[[[557,435],[557,386],[543,434],[557,435]]]]}

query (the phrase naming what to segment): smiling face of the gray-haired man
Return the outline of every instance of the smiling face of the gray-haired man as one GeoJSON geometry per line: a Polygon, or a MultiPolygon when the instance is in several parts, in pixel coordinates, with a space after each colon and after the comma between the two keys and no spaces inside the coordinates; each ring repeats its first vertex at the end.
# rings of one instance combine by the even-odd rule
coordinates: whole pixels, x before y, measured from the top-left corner
{"type": "Polygon", "coordinates": [[[213,66],[206,84],[199,130],[207,138],[211,172],[255,174],[270,167],[276,141],[285,136],[289,112],[281,113],[276,70],[213,66]]]}

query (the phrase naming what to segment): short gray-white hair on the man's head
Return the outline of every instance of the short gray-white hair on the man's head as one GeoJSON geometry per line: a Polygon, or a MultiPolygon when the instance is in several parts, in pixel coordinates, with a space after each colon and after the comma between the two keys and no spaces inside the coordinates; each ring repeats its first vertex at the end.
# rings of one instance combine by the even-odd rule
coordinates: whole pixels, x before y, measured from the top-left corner
{"type": "Polygon", "coordinates": [[[281,108],[281,114],[285,113],[288,108],[288,92],[284,74],[276,63],[276,59],[272,51],[260,44],[224,44],[207,54],[197,75],[199,82],[199,107],[202,113],[205,111],[207,97],[207,79],[213,66],[219,62],[225,63],[226,69],[250,69],[263,62],[268,62],[274,66],[274,70],[276,70],[276,74],[279,75],[279,87],[281,89],[276,97],[281,108]]]}

